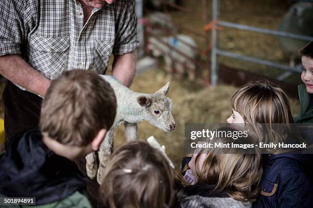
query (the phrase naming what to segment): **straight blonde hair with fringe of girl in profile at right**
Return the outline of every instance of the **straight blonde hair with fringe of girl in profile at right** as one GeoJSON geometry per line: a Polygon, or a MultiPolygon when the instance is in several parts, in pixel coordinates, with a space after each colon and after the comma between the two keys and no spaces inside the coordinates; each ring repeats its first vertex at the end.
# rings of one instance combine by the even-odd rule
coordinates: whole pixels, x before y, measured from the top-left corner
{"type": "MultiPolygon", "coordinates": [[[[232,97],[232,107],[243,118],[256,142],[279,144],[294,139],[305,142],[295,134],[295,123],[289,99],[283,89],[267,80],[243,85],[232,97]]],[[[267,153],[283,153],[283,148],[267,148],[267,153]]]]}

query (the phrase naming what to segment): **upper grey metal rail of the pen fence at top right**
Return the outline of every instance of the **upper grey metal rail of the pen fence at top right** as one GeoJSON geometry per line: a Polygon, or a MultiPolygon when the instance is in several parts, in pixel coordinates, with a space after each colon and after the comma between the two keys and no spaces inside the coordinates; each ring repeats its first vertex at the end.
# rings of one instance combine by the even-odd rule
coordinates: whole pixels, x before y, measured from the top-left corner
{"type": "Polygon", "coordinates": [[[282,32],[282,31],[277,31],[277,30],[256,28],[256,27],[247,26],[247,25],[235,24],[235,23],[227,22],[227,21],[218,21],[217,25],[228,27],[228,28],[239,29],[239,30],[258,32],[258,33],[263,33],[263,34],[268,34],[268,35],[275,35],[275,36],[281,36],[281,37],[286,37],[286,38],[305,40],[305,41],[312,41],[313,40],[313,37],[311,37],[311,36],[297,35],[294,33],[287,33],[287,32],[282,32]]]}

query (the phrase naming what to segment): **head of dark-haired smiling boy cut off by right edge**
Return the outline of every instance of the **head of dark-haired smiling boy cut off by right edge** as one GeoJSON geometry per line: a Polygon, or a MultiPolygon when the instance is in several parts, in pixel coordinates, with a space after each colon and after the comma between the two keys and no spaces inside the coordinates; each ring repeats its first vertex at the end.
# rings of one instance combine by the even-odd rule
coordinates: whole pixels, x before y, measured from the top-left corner
{"type": "Polygon", "coordinates": [[[306,86],[306,91],[313,94],[313,41],[299,50],[303,71],[301,80],[306,86]]]}

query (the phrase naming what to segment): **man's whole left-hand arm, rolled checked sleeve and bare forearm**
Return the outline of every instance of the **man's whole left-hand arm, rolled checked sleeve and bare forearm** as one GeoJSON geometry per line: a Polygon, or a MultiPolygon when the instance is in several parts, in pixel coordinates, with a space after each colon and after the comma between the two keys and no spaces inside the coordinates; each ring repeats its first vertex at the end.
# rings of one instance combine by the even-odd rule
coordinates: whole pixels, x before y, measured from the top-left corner
{"type": "Polygon", "coordinates": [[[40,96],[46,94],[50,81],[23,58],[20,45],[36,26],[38,1],[11,0],[0,4],[0,74],[40,96]]]}

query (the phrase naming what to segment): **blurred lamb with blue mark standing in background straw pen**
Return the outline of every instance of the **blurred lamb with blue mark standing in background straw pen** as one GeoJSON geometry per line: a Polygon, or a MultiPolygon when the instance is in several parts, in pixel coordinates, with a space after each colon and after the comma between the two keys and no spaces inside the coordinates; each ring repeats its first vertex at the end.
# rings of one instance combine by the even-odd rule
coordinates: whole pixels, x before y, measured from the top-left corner
{"type": "Polygon", "coordinates": [[[197,54],[193,48],[196,47],[195,40],[183,34],[163,37],[161,41],[155,37],[150,37],[148,41],[148,50],[152,51],[152,55],[155,57],[164,57],[165,71],[170,76],[174,74],[175,70],[180,77],[187,73],[190,80],[194,80],[195,78],[196,66],[182,54],[194,59],[197,54]],[[164,43],[171,45],[173,49],[164,43]],[[177,53],[176,50],[182,54],[177,53]]]}

